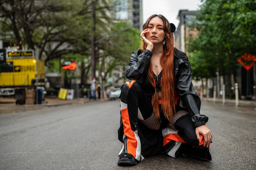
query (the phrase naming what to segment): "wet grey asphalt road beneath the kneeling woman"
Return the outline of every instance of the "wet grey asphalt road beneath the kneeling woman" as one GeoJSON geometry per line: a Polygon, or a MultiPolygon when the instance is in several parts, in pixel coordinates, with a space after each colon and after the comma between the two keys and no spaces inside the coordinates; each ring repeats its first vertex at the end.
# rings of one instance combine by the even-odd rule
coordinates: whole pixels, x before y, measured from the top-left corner
{"type": "Polygon", "coordinates": [[[117,165],[117,100],[0,114],[0,169],[255,169],[255,107],[202,101],[201,114],[213,133],[212,161],[158,155],[132,167],[117,165]]]}

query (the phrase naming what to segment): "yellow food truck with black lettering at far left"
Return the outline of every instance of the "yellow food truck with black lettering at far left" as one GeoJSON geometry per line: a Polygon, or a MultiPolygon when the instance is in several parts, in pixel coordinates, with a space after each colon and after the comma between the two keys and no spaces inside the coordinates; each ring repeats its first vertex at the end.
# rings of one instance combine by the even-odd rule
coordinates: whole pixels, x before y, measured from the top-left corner
{"type": "Polygon", "coordinates": [[[0,96],[13,95],[15,88],[44,86],[45,63],[35,59],[33,50],[7,51],[6,56],[0,65],[0,96]]]}

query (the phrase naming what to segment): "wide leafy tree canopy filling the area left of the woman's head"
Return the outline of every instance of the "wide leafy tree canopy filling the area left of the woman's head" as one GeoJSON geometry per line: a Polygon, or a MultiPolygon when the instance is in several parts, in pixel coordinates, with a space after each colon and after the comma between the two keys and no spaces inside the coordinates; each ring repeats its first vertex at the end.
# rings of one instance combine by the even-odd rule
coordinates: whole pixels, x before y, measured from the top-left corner
{"type": "MultiPolygon", "coordinates": [[[[0,37],[19,49],[39,49],[39,59],[45,60],[50,71],[61,58],[79,59],[83,80],[91,68],[91,35],[97,41],[129,27],[114,22],[111,11],[121,7],[119,0],[1,0],[0,37]]],[[[131,28],[95,44],[96,61],[106,56],[114,58],[106,72],[129,62],[128,51],[131,53],[132,48],[139,46],[136,34],[139,35],[138,30],[131,28]]]]}

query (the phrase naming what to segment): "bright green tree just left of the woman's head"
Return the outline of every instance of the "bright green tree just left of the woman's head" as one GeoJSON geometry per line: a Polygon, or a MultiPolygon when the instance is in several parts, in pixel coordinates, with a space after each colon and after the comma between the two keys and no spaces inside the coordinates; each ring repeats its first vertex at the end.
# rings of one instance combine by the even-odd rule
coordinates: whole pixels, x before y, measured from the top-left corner
{"type": "MultiPolygon", "coordinates": [[[[117,67],[125,68],[123,70],[125,73],[132,51],[137,50],[141,43],[140,31],[125,22],[115,23],[109,34],[113,36],[99,43],[99,49],[104,51],[99,54],[99,58],[102,61],[99,65],[99,70],[101,70],[100,72],[103,71],[103,81],[105,81],[107,73],[111,73],[117,67]],[[108,64],[105,67],[104,64],[107,62],[105,59],[107,58],[108,64]],[[104,67],[105,72],[102,69],[104,67]]],[[[120,78],[125,79],[125,75],[120,78]]]]}

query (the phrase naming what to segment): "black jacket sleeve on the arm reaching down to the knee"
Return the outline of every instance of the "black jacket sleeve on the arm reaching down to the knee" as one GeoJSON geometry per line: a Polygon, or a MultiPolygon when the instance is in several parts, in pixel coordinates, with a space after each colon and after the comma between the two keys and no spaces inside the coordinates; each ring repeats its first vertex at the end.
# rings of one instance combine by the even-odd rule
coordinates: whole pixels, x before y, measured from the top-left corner
{"type": "MultiPolygon", "coordinates": [[[[175,69],[177,68],[175,67],[175,69]]],[[[192,85],[191,68],[187,56],[184,60],[179,59],[176,85],[179,89],[182,105],[189,112],[194,127],[206,124],[208,117],[200,114],[201,101],[192,85]]]]}

